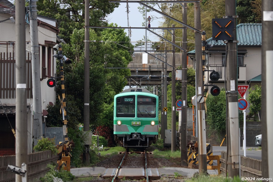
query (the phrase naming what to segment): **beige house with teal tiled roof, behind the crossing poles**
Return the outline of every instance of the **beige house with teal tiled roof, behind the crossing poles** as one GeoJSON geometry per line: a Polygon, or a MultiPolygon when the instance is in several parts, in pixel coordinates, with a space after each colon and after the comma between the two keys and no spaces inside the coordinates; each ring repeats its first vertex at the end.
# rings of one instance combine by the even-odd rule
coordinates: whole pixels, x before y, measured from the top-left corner
{"type": "MultiPolygon", "coordinates": [[[[261,24],[238,24],[237,29],[237,50],[238,50],[238,86],[261,84],[261,43],[262,43],[262,25],[261,24]]],[[[209,78],[210,71],[205,72],[205,84],[217,85],[220,89],[224,88],[225,54],[226,45],[223,41],[215,41],[211,38],[206,43],[213,45],[206,51],[206,70],[215,70],[219,73],[218,81],[212,81],[209,78]]],[[[194,59],[195,50],[187,55],[194,59]]],[[[234,60],[236,61],[236,60],[234,60]]],[[[208,86],[208,92],[211,86],[208,86]]],[[[246,98],[249,89],[246,92],[246,98]]]]}

